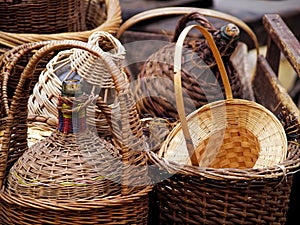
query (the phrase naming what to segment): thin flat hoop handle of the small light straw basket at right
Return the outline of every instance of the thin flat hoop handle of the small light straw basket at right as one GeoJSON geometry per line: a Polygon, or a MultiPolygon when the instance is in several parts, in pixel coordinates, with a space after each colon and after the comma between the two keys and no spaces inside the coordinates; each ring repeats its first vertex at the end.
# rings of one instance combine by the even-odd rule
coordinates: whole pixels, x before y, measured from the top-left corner
{"type": "Polygon", "coordinates": [[[189,128],[188,128],[188,124],[187,124],[187,120],[186,120],[186,116],[185,116],[184,102],[183,102],[183,96],[182,96],[182,85],[181,85],[181,58],[182,58],[183,43],[184,43],[184,40],[185,40],[187,34],[189,33],[189,31],[192,30],[193,28],[196,28],[203,34],[204,38],[207,40],[209,47],[212,50],[212,53],[215,57],[218,69],[221,74],[222,82],[224,84],[226,99],[231,100],[231,99],[233,99],[233,97],[232,97],[231,86],[230,86],[230,83],[228,80],[225,66],[223,64],[221,55],[219,53],[219,50],[218,50],[211,34],[206,30],[206,28],[204,28],[200,25],[190,25],[190,26],[186,27],[179,35],[178,40],[176,42],[176,46],[175,46],[174,89],[175,89],[176,107],[177,107],[182,131],[183,131],[183,135],[185,137],[187,150],[188,150],[192,165],[198,166],[199,161],[196,157],[196,154],[194,153],[195,152],[194,145],[193,145],[193,141],[192,141],[192,138],[191,138],[191,135],[189,132],[189,128]]]}

